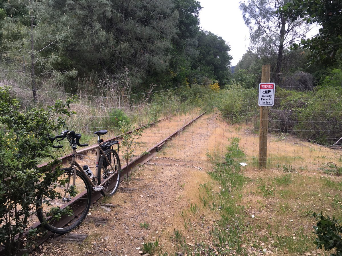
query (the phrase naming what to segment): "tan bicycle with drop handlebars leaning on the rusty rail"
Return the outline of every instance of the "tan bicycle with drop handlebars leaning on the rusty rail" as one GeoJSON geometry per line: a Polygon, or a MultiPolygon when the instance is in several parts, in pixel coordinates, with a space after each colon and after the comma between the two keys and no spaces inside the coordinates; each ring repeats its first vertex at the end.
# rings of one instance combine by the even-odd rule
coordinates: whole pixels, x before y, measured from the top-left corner
{"type": "Polygon", "coordinates": [[[76,161],[77,146],[84,147],[88,144],[79,142],[81,134],[75,131],[65,130],[61,135],[50,137],[53,143],[67,139],[72,149],[70,166],[61,168],[61,175],[56,182],[51,184],[47,190],[42,191],[36,203],[37,217],[46,229],[59,234],[64,234],[78,227],[87,216],[91,205],[92,191],[100,191],[104,196],[113,195],[118,189],[120,182],[120,159],[119,141],[105,142],[100,139],[107,130],[94,132],[97,135],[96,168],[95,174],[88,165],[82,168],[76,161]],[[117,150],[114,150],[117,145],[117,150]]]}

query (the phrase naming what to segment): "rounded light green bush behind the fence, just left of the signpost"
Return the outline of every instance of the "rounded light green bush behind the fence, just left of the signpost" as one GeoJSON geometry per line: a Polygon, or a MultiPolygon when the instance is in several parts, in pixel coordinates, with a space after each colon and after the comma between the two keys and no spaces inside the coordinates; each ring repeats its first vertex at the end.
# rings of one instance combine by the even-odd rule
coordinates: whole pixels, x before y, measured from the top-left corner
{"type": "Polygon", "coordinates": [[[258,109],[256,89],[245,89],[241,84],[232,84],[221,91],[218,108],[225,119],[233,123],[244,122],[254,116],[258,109]]]}

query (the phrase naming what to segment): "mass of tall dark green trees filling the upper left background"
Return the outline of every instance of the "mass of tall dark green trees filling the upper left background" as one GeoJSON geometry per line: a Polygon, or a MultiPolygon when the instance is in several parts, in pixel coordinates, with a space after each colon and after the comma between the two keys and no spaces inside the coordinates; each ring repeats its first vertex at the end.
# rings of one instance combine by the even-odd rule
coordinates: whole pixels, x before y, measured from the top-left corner
{"type": "Polygon", "coordinates": [[[139,93],[225,80],[230,47],[200,31],[200,10],[196,0],[2,1],[1,70],[24,88],[49,81],[71,93],[97,93],[98,80],[126,68],[139,93]],[[89,79],[92,88],[78,86],[89,79]]]}

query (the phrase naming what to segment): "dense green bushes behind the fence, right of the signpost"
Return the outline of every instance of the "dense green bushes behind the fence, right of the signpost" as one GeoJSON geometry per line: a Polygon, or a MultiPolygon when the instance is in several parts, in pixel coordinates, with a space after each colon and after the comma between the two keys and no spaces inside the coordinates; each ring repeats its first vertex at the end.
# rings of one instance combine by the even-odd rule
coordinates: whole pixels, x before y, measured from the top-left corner
{"type": "Polygon", "coordinates": [[[269,128],[332,144],[342,134],[341,97],[342,89],[332,86],[306,92],[277,88],[269,128]]]}

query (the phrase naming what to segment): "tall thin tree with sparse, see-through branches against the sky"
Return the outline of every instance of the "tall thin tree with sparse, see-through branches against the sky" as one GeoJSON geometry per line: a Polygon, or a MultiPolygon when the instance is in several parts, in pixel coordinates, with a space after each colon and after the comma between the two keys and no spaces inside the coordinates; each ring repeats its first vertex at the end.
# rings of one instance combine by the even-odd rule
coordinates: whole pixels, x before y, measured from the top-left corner
{"type": "MultiPolygon", "coordinates": [[[[245,24],[250,28],[252,40],[258,40],[258,49],[276,55],[275,72],[280,73],[284,49],[305,37],[309,27],[302,20],[292,20],[279,8],[288,0],[249,0],[240,2],[245,24]]],[[[251,42],[253,45],[253,42],[251,42]]],[[[276,78],[279,79],[279,76],[276,78]]],[[[278,82],[278,81],[277,81],[278,82]]]]}

